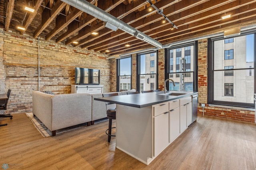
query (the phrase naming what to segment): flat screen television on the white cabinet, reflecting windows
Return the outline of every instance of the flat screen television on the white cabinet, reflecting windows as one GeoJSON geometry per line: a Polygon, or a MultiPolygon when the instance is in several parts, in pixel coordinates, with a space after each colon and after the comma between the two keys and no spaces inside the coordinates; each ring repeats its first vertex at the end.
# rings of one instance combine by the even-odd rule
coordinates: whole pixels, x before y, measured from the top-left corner
{"type": "Polygon", "coordinates": [[[100,70],[76,67],[75,84],[77,85],[99,85],[100,70]]]}

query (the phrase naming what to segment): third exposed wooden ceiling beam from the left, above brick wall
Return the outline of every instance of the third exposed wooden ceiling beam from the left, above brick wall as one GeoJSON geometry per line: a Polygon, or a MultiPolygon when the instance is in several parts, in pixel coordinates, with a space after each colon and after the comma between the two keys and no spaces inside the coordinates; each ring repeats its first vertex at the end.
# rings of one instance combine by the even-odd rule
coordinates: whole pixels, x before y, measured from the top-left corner
{"type": "Polygon", "coordinates": [[[65,5],[65,2],[58,0],[53,6],[52,10],[44,8],[44,11],[42,12],[42,22],[34,32],[34,38],[37,38],[42,31],[50,25],[50,23],[58,16],[65,5]]]}

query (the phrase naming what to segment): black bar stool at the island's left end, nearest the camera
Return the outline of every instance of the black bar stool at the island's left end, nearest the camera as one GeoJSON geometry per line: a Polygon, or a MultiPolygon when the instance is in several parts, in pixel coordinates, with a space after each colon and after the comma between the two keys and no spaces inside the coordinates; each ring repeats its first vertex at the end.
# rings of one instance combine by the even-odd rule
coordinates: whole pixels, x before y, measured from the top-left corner
{"type": "MultiPolygon", "coordinates": [[[[103,97],[110,97],[110,96],[118,96],[118,93],[108,93],[108,94],[102,94],[102,95],[103,97]]],[[[106,102],[106,107],[107,105],[111,105],[111,104],[112,103],[106,102]]],[[[108,135],[108,142],[110,142],[111,136],[116,136],[111,134],[112,128],[116,128],[116,127],[112,127],[112,119],[116,119],[116,108],[107,109],[107,118],[109,119],[109,123],[108,123],[108,129],[106,130],[106,134],[108,135]]]]}

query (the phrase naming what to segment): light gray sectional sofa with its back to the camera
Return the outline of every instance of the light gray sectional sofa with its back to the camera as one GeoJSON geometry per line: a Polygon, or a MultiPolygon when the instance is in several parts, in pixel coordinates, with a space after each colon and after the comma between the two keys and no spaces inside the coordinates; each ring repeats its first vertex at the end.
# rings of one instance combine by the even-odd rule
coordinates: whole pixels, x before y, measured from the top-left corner
{"type": "MultiPolygon", "coordinates": [[[[118,92],[118,95],[126,95],[126,92],[118,92]]],[[[110,92],[117,93],[117,92],[110,92]]],[[[115,107],[105,102],[95,101],[95,97],[102,97],[102,93],[72,93],[50,95],[40,91],[33,91],[32,112],[44,125],[56,135],[56,130],[82,123],[88,126],[98,119],[106,118],[106,109],[115,107]]]]}

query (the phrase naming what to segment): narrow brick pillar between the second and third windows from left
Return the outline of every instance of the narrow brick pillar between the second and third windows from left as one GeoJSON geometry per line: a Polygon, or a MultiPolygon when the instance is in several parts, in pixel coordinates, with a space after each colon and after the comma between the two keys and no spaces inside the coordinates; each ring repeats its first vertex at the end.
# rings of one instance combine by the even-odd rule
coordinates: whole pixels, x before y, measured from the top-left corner
{"type": "Polygon", "coordinates": [[[164,90],[164,49],[158,50],[158,89],[164,90]]]}

